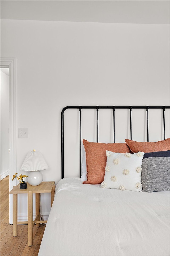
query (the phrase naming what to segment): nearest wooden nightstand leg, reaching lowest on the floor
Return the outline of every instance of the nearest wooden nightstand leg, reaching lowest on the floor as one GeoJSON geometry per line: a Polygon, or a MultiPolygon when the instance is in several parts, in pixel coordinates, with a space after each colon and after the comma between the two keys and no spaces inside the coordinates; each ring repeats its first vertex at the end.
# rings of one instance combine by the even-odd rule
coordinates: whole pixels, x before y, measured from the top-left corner
{"type": "Polygon", "coordinates": [[[28,191],[28,246],[32,245],[32,191],[28,191]]]}

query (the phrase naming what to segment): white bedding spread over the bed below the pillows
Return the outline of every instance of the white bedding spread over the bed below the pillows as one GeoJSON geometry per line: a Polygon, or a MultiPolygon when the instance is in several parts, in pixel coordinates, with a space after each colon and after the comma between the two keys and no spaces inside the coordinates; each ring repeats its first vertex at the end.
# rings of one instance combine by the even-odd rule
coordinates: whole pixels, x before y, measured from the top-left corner
{"type": "Polygon", "coordinates": [[[169,199],[62,179],[38,255],[169,255],[169,199]]]}

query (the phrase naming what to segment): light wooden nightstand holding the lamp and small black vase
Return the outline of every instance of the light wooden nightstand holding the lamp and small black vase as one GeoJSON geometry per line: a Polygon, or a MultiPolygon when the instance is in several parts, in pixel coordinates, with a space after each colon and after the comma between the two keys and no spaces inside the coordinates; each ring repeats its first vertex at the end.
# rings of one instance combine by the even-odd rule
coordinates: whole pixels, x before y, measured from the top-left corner
{"type": "Polygon", "coordinates": [[[28,246],[32,245],[32,229],[36,223],[36,227],[40,223],[47,221],[40,221],[40,193],[51,193],[51,206],[54,201],[55,185],[54,181],[44,181],[38,186],[31,186],[27,183],[27,189],[20,189],[18,184],[10,191],[13,194],[13,237],[17,236],[17,224],[28,224],[28,246]],[[28,194],[28,221],[18,222],[18,194],[28,194]],[[36,218],[33,221],[32,217],[32,194],[36,193],[36,218]]]}

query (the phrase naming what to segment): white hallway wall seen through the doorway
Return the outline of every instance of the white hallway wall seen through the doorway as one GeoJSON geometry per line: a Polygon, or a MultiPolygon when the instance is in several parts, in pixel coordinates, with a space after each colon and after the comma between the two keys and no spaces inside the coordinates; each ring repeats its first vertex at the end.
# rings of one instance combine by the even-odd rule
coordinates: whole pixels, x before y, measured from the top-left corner
{"type": "Polygon", "coordinates": [[[9,76],[1,72],[1,161],[0,180],[9,175],[9,76]]]}

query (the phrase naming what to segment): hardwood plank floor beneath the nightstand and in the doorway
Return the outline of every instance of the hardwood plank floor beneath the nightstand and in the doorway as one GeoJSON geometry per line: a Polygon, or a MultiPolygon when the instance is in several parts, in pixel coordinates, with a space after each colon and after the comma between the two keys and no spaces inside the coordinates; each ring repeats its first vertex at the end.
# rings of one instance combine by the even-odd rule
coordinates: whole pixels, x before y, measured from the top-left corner
{"type": "Polygon", "coordinates": [[[12,236],[9,224],[9,176],[0,181],[0,256],[36,256],[46,225],[33,227],[33,245],[27,245],[27,225],[18,225],[18,236],[12,236]]]}

